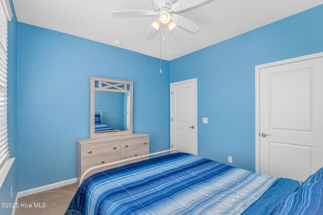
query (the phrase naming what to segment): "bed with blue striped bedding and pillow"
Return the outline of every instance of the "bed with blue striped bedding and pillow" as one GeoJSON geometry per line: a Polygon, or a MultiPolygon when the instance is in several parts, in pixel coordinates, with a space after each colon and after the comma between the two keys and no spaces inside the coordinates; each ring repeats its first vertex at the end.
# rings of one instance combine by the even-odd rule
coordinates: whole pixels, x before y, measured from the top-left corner
{"type": "Polygon", "coordinates": [[[323,214],[323,169],[305,182],[186,153],[89,176],[65,214],[323,214]]]}

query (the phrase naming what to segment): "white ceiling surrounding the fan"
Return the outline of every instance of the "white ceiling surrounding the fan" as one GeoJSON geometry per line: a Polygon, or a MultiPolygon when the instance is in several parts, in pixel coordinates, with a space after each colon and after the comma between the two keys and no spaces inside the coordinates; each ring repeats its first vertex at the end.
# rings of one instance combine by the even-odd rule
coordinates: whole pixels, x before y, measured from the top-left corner
{"type": "MultiPolygon", "coordinates": [[[[111,11],[149,10],[150,0],[13,0],[17,20],[78,37],[160,57],[160,38],[147,40],[153,17],[113,18],[111,11]]],[[[210,0],[180,14],[200,26],[179,27],[162,41],[161,58],[172,60],[258,27],[322,5],[323,0],[210,0]],[[167,55],[178,52],[174,56],[167,55]]]]}

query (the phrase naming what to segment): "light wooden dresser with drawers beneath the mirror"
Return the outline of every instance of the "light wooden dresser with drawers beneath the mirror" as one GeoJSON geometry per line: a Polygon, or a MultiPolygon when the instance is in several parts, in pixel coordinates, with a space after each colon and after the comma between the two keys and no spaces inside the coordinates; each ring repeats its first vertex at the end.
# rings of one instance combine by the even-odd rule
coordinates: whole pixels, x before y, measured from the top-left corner
{"type": "MultiPolygon", "coordinates": [[[[149,154],[149,134],[145,133],[85,138],[78,139],[77,142],[78,181],[82,174],[90,167],[149,154]]],[[[132,162],[123,163],[121,165],[129,163],[132,162]]],[[[118,166],[120,165],[92,171],[86,177],[96,172],[118,166]]]]}

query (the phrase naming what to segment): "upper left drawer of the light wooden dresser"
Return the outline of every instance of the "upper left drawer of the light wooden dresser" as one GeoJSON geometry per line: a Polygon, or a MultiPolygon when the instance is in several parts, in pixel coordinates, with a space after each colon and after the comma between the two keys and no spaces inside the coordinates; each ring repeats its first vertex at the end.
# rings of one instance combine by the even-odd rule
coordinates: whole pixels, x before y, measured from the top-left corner
{"type": "Polygon", "coordinates": [[[82,147],[82,159],[93,158],[102,155],[109,155],[120,152],[120,142],[109,144],[96,144],[82,147]]]}

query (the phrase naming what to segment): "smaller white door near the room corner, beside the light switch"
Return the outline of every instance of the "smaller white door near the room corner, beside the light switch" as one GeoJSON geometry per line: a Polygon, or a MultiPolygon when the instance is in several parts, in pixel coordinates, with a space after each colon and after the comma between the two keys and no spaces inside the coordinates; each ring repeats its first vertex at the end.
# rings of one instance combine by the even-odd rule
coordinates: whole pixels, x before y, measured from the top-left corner
{"type": "Polygon", "coordinates": [[[197,155],[197,79],[171,84],[171,148],[197,155]]]}

